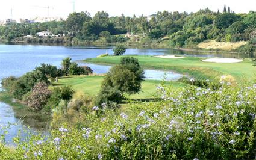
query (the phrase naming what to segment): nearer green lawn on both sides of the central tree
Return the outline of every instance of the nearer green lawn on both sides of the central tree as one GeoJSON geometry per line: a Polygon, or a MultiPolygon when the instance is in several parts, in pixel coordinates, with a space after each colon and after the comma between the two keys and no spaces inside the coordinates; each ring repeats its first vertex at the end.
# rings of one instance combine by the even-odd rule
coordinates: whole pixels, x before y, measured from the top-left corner
{"type": "MultiPolygon", "coordinates": [[[[54,82],[53,85],[70,85],[76,92],[96,96],[101,88],[101,82],[103,79],[104,76],[66,76],[63,78],[59,78],[58,83],[54,82]]],[[[142,91],[139,94],[134,94],[129,97],[131,99],[153,98],[158,84],[161,84],[161,81],[143,81],[142,91]]],[[[166,84],[172,85],[176,88],[187,86],[186,84],[180,82],[166,82],[166,84]]]]}

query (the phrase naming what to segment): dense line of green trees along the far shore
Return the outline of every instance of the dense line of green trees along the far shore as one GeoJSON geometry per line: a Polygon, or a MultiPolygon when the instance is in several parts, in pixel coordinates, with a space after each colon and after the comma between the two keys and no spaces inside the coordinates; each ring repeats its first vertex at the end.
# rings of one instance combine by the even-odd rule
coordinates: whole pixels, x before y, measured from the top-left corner
{"type": "MultiPolygon", "coordinates": [[[[124,36],[126,33],[137,35],[140,42],[161,42],[167,39],[172,47],[193,46],[204,40],[219,42],[256,40],[256,12],[236,14],[230,7],[211,11],[208,8],[196,13],[178,11],[158,11],[147,16],[110,17],[105,11],[98,11],[95,16],[89,12],[72,13],[66,20],[46,23],[8,23],[0,27],[2,40],[14,40],[24,35],[35,35],[49,29],[52,34],[66,34],[60,42],[105,42],[123,43],[134,40],[124,36]]],[[[135,36],[134,36],[135,37],[135,36]]],[[[135,41],[135,40],[134,40],[135,41]]],[[[57,41],[58,42],[58,41],[57,41]]]]}

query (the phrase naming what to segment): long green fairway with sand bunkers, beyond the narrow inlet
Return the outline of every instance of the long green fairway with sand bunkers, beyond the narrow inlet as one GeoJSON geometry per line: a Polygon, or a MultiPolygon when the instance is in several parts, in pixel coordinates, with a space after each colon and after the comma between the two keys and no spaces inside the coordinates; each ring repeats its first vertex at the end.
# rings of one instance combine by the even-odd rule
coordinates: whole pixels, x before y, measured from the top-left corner
{"type": "MultiPolygon", "coordinates": [[[[123,56],[108,56],[102,58],[90,58],[87,63],[114,65],[120,62],[123,56]]],[[[151,56],[133,56],[139,59],[140,65],[145,69],[175,70],[180,73],[188,73],[195,78],[220,78],[222,75],[232,75],[238,81],[242,78],[254,79],[256,67],[253,62],[245,59],[241,63],[206,63],[205,58],[185,57],[182,59],[155,58],[151,56]]]]}

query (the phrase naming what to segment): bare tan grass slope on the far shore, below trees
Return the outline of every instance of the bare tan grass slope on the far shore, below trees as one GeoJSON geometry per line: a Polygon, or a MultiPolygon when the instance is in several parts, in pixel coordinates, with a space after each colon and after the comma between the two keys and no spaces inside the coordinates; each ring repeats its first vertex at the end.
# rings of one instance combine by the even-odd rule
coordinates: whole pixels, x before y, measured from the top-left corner
{"type": "Polygon", "coordinates": [[[247,42],[216,42],[216,40],[210,40],[207,42],[202,42],[198,44],[199,48],[203,49],[222,49],[225,51],[232,51],[239,48],[240,46],[246,45],[247,42]]]}

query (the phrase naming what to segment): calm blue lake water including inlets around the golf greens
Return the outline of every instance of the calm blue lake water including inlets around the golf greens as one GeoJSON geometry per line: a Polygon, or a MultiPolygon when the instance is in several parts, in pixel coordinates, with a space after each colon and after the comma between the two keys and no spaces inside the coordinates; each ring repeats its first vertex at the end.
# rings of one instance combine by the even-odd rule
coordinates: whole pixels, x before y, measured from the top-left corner
{"type": "MultiPolygon", "coordinates": [[[[0,45],[0,79],[7,76],[21,76],[30,70],[33,70],[41,63],[49,63],[60,66],[63,58],[70,57],[73,61],[84,60],[86,58],[95,58],[97,55],[105,52],[112,53],[112,47],[65,47],[65,46],[40,46],[40,45],[0,45]]],[[[149,49],[149,48],[128,48],[126,55],[187,55],[196,57],[246,57],[237,54],[207,54],[202,52],[187,52],[173,49],[149,49]]],[[[82,64],[80,62],[80,64],[82,64]]],[[[83,63],[84,64],[84,63],[83,63]]],[[[110,66],[102,66],[96,64],[86,64],[92,67],[95,73],[106,73],[110,66]]],[[[166,74],[167,79],[175,80],[180,78],[181,74],[170,71],[145,70],[146,79],[161,80],[166,74]]],[[[1,86],[0,86],[1,91],[1,86]]],[[[8,129],[6,140],[17,135],[19,130],[26,127],[14,117],[13,109],[5,103],[0,102],[0,127],[7,126],[8,122],[17,123],[11,125],[8,129]]],[[[2,130],[0,129],[0,134],[2,130]]],[[[22,132],[22,134],[25,134],[22,132]]]]}

